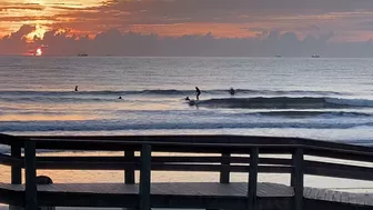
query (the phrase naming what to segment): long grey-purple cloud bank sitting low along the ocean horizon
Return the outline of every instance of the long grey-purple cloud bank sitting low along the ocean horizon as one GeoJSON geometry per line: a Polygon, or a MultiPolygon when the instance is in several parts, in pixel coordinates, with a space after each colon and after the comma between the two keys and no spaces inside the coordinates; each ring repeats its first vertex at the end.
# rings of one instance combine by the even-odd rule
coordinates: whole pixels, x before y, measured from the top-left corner
{"type": "Polygon", "coordinates": [[[24,37],[33,30],[32,26],[23,26],[2,38],[0,54],[21,54],[40,47],[43,47],[44,56],[310,57],[320,53],[322,57],[370,57],[373,53],[369,41],[330,42],[334,32],[300,38],[295,32],[269,31],[252,38],[216,38],[213,33],[160,37],[111,29],[90,39],[71,31],[51,30],[42,39],[28,42],[24,37]]]}

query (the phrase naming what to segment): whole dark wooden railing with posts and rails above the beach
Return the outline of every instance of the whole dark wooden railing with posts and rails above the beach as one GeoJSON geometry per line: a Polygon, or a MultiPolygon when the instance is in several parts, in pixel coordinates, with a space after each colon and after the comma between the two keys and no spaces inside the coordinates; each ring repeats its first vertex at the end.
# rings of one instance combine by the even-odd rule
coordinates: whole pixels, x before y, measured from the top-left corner
{"type": "MultiPolygon", "coordinates": [[[[26,208],[37,209],[37,169],[124,170],[124,183],[134,183],[140,171],[140,209],[150,209],[151,171],[220,172],[229,183],[231,172],[249,172],[248,208],[256,208],[258,173],[290,173],[294,188],[294,209],[303,206],[304,174],[373,180],[373,148],[300,138],[243,136],[123,136],[123,137],[12,137],[0,134],[0,143],[11,147],[0,154],[0,163],[11,167],[11,183],[22,182],[26,169],[26,208]],[[22,156],[21,149],[24,149],[22,156]],[[117,157],[37,157],[37,149],[124,151],[117,157]],[[135,156],[140,152],[140,156],[135,156]],[[177,152],[179,156],[152,156],[177,152]],[[194,153],[194,156],[181,156],[194,153]],[[218,154],[218,156],[211,156],[218,154]],[[234,156],[233,156],[234,154],[234,156]],[[239,156],[238,156],[239,154],[239,156]],[[249,154],[242,156],[242,154],[249,154]],[[269,158],[260,154],[289,154],[269,158]],[[308,157],[362,161],[371,166],[309,160],[308,157]]],[[[273,157],[273,156],[271,156],[273,157]]]]}

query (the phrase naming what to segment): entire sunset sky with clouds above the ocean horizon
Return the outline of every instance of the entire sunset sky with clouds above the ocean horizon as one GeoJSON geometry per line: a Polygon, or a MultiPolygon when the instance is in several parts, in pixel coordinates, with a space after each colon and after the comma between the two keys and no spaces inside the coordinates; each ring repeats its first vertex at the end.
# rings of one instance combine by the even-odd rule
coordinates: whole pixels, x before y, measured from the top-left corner
{"type": "Polygon", "coordinates": [[[373,54],[372,0],[0,0],[0,54],[373,54]]]}

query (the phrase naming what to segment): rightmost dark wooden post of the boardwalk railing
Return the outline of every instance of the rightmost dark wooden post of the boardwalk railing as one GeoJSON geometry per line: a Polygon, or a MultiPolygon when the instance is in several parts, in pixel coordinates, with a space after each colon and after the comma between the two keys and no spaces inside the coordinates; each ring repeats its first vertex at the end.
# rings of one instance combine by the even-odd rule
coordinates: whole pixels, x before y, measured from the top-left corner
{"type": "Polygon", "coordinates": [[[293,173],[291,174],[291,186],[294,188],[294,210],[303,209],[303,149],[298,148],[293,153],[293,173]]]}

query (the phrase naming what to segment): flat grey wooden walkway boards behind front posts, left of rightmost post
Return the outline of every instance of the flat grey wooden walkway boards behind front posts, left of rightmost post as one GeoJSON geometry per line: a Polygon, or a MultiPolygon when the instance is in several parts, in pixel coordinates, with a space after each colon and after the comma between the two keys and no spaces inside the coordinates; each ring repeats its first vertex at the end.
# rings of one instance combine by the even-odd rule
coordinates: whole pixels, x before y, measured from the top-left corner
{"type": "MultiPolygon", "coordinates": [[[[0,189],[23,191],[23,184],[0,183],[0,189]]],[[[101,193],[101,194],[139,194],[140,183],[52,183],[38,186],[39,191],[43,192],[77,192],[77,193],[101,193]]],[[[258,191],[265,191],[261,197],[293,197],[292,188],[278,184],[259,182],[258,191]]],[[[218,197],[239,197],[248,198],[246,182],[231,182],[222,184],[218,182],[155,182],[151,183],[151,194],[169,196],[218,196],[218,197]]]]}

